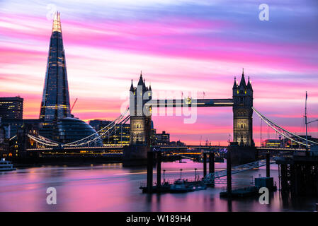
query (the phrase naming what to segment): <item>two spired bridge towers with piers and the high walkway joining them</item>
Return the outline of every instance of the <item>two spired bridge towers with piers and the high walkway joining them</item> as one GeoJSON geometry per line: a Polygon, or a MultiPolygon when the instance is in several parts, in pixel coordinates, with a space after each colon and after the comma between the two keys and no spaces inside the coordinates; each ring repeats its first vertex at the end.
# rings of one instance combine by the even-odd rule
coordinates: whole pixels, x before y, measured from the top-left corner
{"type": "MultiPolygon", "coordinates": [[[[249,78],[248,78],[249,79],[249,78]]],[[[237,164],[256,160],[253,141],[253,88],[244,71],[239,84],[234,78],[232,98],[152,100],[152,88],[146,86],[142,73],[134,87],[130,85],[130,145],[124,148],[124,164],[137,165],[147,160],[151,145],[151,121],[154,107],[232,107],[233,111],[233,162],[237,164]]]]}

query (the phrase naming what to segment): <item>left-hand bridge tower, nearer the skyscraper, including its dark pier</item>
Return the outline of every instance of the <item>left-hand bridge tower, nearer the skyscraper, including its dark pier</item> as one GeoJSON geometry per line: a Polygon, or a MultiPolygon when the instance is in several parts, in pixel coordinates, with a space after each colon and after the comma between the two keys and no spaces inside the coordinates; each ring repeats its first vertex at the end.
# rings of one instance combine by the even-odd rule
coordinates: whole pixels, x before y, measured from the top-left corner
{"type": "Polygon", "coordinates": [[[130,145],[124,148],[124,166],[147,164],[152,129],[152,108],[145,106],[149,100],[152,100],[152,88],[146,86],[140,73],[137,87],[130,85],[130,145]]]}

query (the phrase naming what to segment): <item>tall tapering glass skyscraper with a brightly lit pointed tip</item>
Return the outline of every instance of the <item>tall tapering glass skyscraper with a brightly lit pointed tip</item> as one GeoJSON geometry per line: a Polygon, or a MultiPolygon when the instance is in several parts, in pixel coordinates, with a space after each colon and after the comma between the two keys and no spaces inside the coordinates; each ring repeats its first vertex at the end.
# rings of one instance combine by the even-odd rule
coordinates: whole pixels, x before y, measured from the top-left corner
{"type": "Polygon", "coordinates": [[[61,20],[57,12],[53,20],[40,119],[56,121],[65,117],[71,117],[69,85],[67,83],[67,66],[62,40],[61,20]]]}

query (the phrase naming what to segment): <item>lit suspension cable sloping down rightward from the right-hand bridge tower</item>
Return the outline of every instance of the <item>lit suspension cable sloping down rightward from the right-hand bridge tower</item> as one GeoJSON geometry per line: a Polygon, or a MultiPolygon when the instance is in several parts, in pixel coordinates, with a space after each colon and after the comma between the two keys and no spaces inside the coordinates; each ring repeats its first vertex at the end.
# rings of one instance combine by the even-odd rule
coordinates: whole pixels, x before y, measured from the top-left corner
{"type": "Polygon", "coordinates": [[[268,124],[268,126],[270,126],[274,131],[276,131],[283,137],[290,139],[290,141],[294,141],[295,143],[298,143],[300,145],[306,145],[306,143],[302,143],[302,141],[308,141],[309,143],[318,145],[317,142],[306,140],[306,138],[302,138],[301,136],[298,136],[295,133],[291,133],[290,131],[283,129],[282,127],[278,126],[278,124],[263,116],[263,114],[257,111],[254,107],[251,108],[261,119],[263,119],[263,121],[265,121],[266,124],[268,124]]]}

